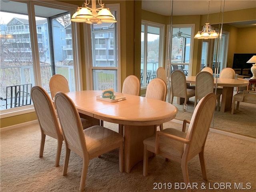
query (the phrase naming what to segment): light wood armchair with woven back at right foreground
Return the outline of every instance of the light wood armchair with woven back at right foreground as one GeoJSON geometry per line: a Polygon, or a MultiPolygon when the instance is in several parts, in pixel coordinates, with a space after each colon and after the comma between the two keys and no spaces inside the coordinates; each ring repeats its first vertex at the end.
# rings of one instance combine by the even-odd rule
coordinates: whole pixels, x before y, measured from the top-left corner
{"type": "MultiPolygon", "coordinates": [[[[148,175],[148,152],[161,155],[166,160],[173,160],[181,164],[182,175],[186,186],[189,184],[188,161],[197,154],[201,164],[202,176],[207,180],[204,161],[204,147],[214,114],[216,96],[209,93],[202,98],[191,120],[184,120],[182,131],[175,128],[166,128],[157,131],[152,137],[146,138],[144,143],[143,175],[148,175]],[[189,123],[188,131],[186,124],[189,123]]],[[[186,189],[190,192],[190,188],[186,189]]]]}

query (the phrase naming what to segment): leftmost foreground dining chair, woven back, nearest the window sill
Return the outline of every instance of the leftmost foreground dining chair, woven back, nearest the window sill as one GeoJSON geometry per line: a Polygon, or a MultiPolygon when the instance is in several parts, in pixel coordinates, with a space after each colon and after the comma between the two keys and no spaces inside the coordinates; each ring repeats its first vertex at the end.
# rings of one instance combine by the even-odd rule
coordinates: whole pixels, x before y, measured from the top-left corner
{"type": "Polygon", "coordinates": [[[31,98],[34,104],[36,116],[39,122],[41,131],[41,144],[39,157],[43,156],[44,153],[44,143],[46,135],[57,139],[57,153],[55,166],[59,166],[60,153],[62,148],[62,141],[64,140],[62,136],[62,130],[58,122],[58,117],[56,110],[52,103],[52,100],[48,93],[40,86],[33,86],[31,88],[31,98]]]}

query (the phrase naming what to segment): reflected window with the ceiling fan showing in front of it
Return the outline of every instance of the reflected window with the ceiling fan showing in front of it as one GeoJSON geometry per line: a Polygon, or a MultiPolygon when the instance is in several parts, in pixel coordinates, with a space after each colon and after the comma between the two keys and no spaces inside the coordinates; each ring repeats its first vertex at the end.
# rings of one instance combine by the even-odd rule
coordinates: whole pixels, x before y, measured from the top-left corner
{"type": "MultiPolygon", "coordinates": [[[[170,26],[168,26],[168,31],[170,31],[170,26]]],[[[194,24],[172,25],[171,72],[180,70],[186,76],[191,74],[193,37],[194,24]]]]}

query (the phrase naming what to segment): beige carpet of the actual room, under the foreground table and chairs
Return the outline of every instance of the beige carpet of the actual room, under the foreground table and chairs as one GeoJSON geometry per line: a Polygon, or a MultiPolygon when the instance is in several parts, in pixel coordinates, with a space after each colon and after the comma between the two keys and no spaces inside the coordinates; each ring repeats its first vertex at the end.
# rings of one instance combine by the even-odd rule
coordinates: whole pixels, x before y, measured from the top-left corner
{"type": "MultiPolygon", "coordinates": [[[[105,126],[118,130],[118,125],[104,122],[105,126]]],[[[167,122],[164,128],[181,128],[180,124],[167,122]]],[[[76,192],[79,190],[82,171],[82,158],[73,152],[70,154],[67,176],[62,176],[65,146],[63,144],[60,166],[54,167],[56,157],[55,139],[46,136],[44,157],[39,158],[40,129],[32,125],[19,129],[1,132],[1,192],[76,192]]],[[[256,143],[231,138],[209,132],[205,148],[208,182],[203,180],[198,156],[188,165],[190,182],[198,184],[200,191],[212,192],[245,192],[256,191],[256,143]],[[202,183],[206,190],[201,190],[202,183]],[[220,183],[230,183],[230,189],[211,189],[220,183]],[[248,184],[250,190],[234,190],[240,183],[243,188],[248,184]],[[210,187],[209,187],[210,184],[210,187]]],[[[154,183],[172,185],[183,182],[180,164],[166,162],[155,156],[149,160],[149,175],[142,175],[143,162],[132,168],[131,173],[118,171],[118,150],[90,160],[85,189],[87,192],[150,192],[185,190],[153,190],[154,183]]]]}

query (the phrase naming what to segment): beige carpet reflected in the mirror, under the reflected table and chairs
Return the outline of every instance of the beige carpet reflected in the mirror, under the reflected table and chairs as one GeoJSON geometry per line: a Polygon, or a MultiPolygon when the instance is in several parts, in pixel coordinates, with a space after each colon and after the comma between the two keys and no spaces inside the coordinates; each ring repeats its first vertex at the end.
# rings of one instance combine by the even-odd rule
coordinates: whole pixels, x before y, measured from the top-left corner
{"type": "MultiPolygon", "coordinates": [[[[177,98],[174,97],[173,105],[179,110],[176,119],[191,119],[194,112],[194,97],[190,98],[187,104],[188,110],[184,112],[182,105],[178,105],[177,98]]],[[[256,105],[240,102],[239,110],[235,110],[233,115],[231,109],[224,113],[215,110],[213,123],[213,128],[256,138],[256,105]]]]}

